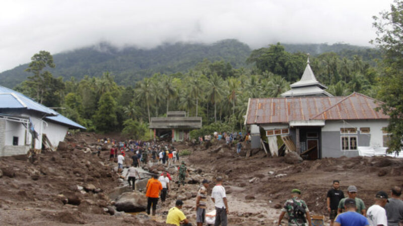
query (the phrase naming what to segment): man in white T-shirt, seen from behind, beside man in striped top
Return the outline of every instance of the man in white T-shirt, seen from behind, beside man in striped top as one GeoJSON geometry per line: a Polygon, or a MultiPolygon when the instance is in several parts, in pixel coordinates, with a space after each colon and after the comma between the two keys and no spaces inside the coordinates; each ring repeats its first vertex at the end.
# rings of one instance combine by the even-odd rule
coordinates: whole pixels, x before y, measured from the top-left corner
{"type": "Polygon", "coordinates": [[[227,195],[225,193],[225,188],[223,187],[223,178],[217,177],[216,186],[213,187],[211,193],[211,200],[214,202],[214,207],[216,208],[216,221],[214,226],[222,225],[227,226],[228,220],[227,215],[229,214],[227,195]]]}

